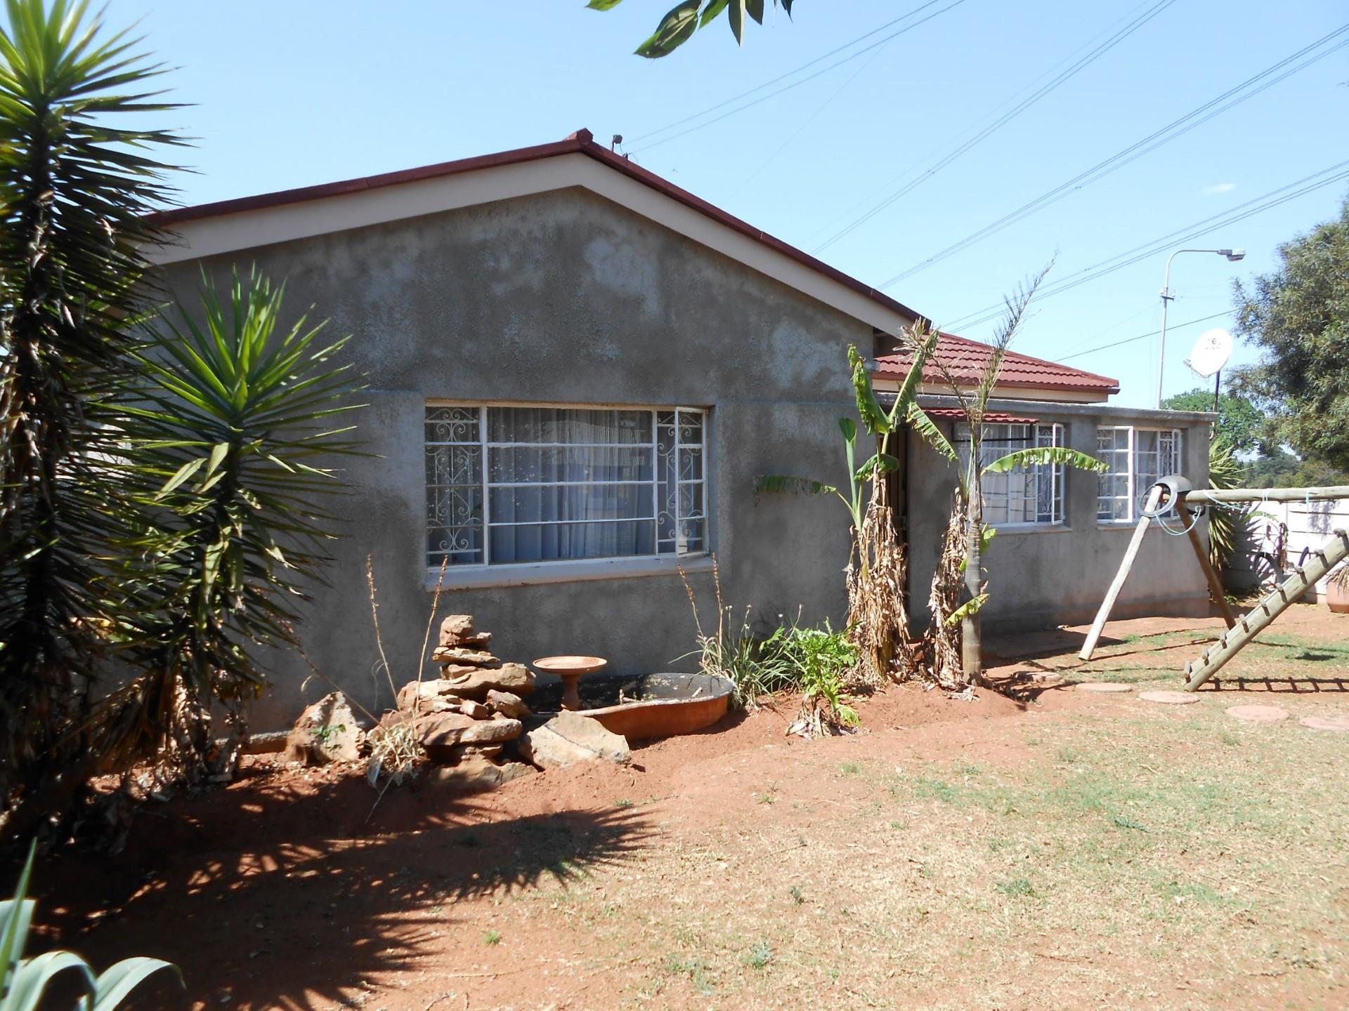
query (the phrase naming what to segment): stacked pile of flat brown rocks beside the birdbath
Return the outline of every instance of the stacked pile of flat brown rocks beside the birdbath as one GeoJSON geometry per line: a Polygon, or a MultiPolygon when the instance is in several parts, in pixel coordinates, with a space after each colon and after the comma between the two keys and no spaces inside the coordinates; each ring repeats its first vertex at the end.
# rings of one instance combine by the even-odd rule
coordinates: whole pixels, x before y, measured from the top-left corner
{"type": "Polygon", "coordinates": [[[523,696],[534,690],[534,674],[494,656],[487,650],[491,638],[473,631],[469,615],[447,617],[432,654],[441,677],[405,685],[398,710],[380,721],[384,727],[411,721],[426,758],[460,770],[437,771],[436,780],[490,789],[530,770],[503,760],[503,752],[523,732],[521,718],[530,714],[523,696]]]}

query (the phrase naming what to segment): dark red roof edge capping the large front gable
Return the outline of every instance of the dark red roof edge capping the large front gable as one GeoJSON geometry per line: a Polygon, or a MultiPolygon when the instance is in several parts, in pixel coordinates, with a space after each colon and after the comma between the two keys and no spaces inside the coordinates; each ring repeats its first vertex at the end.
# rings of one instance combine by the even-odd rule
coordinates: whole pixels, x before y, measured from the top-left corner
{"type": "Polygon", "coordinates": [[[461,158],[456,162],[441,162],[438,164],[428,164],[420,168],[405,168],[397,173],[384,173],[383,175],[367,175],[359,179],[344,179],[341,182],[328,182],[318,186],[304,186],[294,190],[281,190],[278,193],[263,193],[256,197],[240,197],[237,200],[224,200],[214,204],[200,204],[192,208],[173,208],[170,210],[161,210],[158,213],[150,214],[148,221],[161,228],[170,229],[173,225],[182,221],[201,221],[204,218],[223,217],[225,214],[239,214],[247,210],[262,210],[266,208],[279,208],[289,204],[299,204],[310,200],[324,200],[326,197],[337,197],[344,193],[360,193],[363,190],[380,189],[383,186],[397,186],[405,182],[418,182],[422,179],[437,179],[447,175],[459,175],[461,173],[478,171],[480,168],[492,168],[502,164],[519,164],[522,162],[537,162],[545,158],[556,158],[558,155],[569,154],[583,154],[594,158],[610,168],[614,168],[631,179],[649,186],[650,189],[679,201],[680,204],[692,208],[693,210],[706,214],[707,217],[718,221],[727,228],[731,228],[741,235],[749,236],[754,241],[769,247],[770,249],[796,260],[797,263],[808,267],[809,270],[823,274],[826,278],[843,284],[844,287],[857,291],[865,298],[877,302],[886,309],[890,309],[901,315],[911,319],[923,319],[919,313],[909,309],[902,302],[890,298],[885,293],[873,288],[869,284],[862,283],[857,278],[853,278],[836,267],[831,267],[823,260],[817,260],[807,252],[797,249],[795,245],[784,243],[781,239],[770,236],[754,225],[742,221],[734,214],[727,214],[718,206],[708,204],[701,197],[695,197],[685,189],[676,186],[668,179],[661,178],[653,171],[642,168],[642,166],[631,162],[623,155],[614,154],[607,147],[595,143],[595,136],[588,129],[579,129],[572,133],[565,140],[558,140],[552,144],[538,144],[536,147],[522,147],[514,151],[500,151],[494,155],[479,155],[476,158],[461,158]]]}

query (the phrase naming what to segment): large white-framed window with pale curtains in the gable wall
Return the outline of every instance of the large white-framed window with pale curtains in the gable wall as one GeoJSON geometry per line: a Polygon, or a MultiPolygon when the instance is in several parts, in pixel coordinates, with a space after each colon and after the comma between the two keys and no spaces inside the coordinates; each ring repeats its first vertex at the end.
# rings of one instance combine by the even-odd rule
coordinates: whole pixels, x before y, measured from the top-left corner
{"type": "Polygon", "coordinates": [[[706,415],[688,407],[426,407],[426,561],[707,550],[706,415]]]}

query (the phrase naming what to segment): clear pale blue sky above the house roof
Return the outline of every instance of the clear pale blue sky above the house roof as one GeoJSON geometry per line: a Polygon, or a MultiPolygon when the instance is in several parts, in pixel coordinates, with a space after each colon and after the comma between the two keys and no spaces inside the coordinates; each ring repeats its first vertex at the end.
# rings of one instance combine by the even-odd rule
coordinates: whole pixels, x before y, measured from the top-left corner
{"type": "MultiPolygon", "coordinates": [[[[189,204],[537,144],[588,127],[606,142],[622,133],[621,150],[641,164],[815,251],[1156,1],[940,0],[774,88],[936,13],[911,31],[677,137],[677,129],[654,132],[924,0],[796,0],[795,20],[770,11],[764,27],[750,26],[743,49],[723,18],[661,61],[631,50],[670,0],[625,0],[606,13],[580,0],[112,0],[108,16],[119,26],[142,18],[148,46],[177,67],[167,84],[192,106],[174,119],[197,139],[188,152],[196,174],[181,181],[189,204]]],[[[1175,0],[817,255],[880,284],[1346,22],[1342,0],[1175,0]]],[[[886,291],[938,322],[959,321],[996,305],[1051,257],[1050,284],[1345,162],[1346,124],[1349,47],[886,291]]],[[[1346,193],[1349,181],[1340,181],[1188,243],[1248,255],[1237,264],[1176,259],[1168,395],[1201,384],[1183,361],[1202,330],[1228,319],[1176,324],[1230,309],[1232,278],[1268,271],[1278,244],[1333,217],[1346,193]]],[[[1070,364],[1121,380],[1118,403],[1151,404],[1155,336],[1078,352],[1157,329],[1166,255],[1044,298],[1014,348],[1074,356],[1070,364]]],[[[992,326],[954,329],[985,338],[992,326]]],[[[1234,361],[1253,357],[1238,348],[1234,361]]]]}

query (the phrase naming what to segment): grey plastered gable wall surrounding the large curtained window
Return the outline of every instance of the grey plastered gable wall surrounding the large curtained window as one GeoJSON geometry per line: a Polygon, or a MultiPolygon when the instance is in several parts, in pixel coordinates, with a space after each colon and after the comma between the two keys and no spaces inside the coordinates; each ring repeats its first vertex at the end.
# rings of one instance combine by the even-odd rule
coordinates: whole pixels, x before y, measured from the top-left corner
{"type": "MultiPolygon", "coordinates": [[[[366,705],[390,704],[366,589],[374,559],[395,681],[417,673],[426,590],[424,406],[428,399],[710,407],[711,541],[735,620],[844,612],[846,512],[836,500],[754,501],[759,473],[838,479],[836,419],[853,402],[850,342],[871,326],[581,190],[488,204],[212,257],[287,280],[287,322],[313,306],[368,376],[359,418],[367,449],[348,461],[351,493],[333,503],[341,541],[332,585],[302,624],[314,662],[366,705]]],[[[165,270],[193,299],[198,263],[165,270]]],[[[710,574],[692,577],[704,624],[716,621],[710,574]]],[[[693,666],[695,628],[677,576],[460,589],[442,613],[468,612],[506,659],[594,652],[618,671],[693,666]]],[[[270,661],[275,690],[255,729],[291,721],[302,665],[270,661]]],[[[430,671],[428,671],[430,673],[430,671]]],[[[305,698],[326,690],[310,686],[305,698]]]]}

